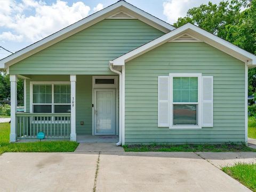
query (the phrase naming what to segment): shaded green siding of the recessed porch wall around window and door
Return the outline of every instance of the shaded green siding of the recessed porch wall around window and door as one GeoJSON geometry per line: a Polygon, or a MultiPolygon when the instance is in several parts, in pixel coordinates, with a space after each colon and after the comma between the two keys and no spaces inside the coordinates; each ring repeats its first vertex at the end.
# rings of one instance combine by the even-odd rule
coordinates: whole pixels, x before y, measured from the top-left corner
{"type": "MultiPolygon", "coordinates": [[[[27,112],[30,109],[30,82],[69,82],[69,75],[31,75],[27,79],[27,112]]],[[[76,79],[76,132],[92,135],[92,75],[77,75],[76,79]],[[83,121],[84,125],[80,122],[83,121]]]]}

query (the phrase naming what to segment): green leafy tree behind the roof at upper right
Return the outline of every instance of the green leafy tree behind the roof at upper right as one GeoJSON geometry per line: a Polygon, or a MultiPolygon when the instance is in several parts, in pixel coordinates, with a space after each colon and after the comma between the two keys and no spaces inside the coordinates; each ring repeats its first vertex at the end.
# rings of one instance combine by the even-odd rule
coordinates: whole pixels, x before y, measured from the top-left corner
{"type": "MultiPolygon", "coordinates": [[[[202,4],[189,9],[186,17],[179,18],[174,26],[188,22],[256,54],[256,0],[202,4]]],[[[248,78],[248,94],[251,95],[256,91],[255,68],[249,69],[248,78]]]]}

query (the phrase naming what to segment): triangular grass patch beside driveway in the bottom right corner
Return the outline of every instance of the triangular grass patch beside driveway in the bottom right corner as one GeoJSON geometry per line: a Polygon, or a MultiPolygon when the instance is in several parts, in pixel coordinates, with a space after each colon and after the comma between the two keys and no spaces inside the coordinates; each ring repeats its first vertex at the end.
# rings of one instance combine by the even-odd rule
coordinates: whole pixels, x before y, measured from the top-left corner
{"type": "Polygon", "coordinates": [[[238,180],[252,191],[256,191],[256,164],[237,163],[231,167],[222,167],[222,171],[238,180]]]}

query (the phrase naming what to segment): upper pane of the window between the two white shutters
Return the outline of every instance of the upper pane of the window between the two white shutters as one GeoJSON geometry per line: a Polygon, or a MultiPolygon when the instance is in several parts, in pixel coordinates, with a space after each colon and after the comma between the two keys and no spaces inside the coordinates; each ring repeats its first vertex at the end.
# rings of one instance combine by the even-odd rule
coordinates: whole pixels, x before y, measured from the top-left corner
{"type": "Polygon", "coordinates": [[[197,77],[173,77],[173,102],[197,102],[197,77]]]}

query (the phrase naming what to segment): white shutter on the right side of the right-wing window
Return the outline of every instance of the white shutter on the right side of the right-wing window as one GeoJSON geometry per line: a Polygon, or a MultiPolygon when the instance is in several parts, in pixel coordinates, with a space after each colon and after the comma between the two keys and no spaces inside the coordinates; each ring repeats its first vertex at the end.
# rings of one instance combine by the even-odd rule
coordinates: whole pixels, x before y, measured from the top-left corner
{"type": "Polygon", "coordinates": [[[213,127],[213,76],[202,79],[202,127],[213,127]]]}

